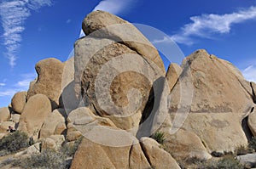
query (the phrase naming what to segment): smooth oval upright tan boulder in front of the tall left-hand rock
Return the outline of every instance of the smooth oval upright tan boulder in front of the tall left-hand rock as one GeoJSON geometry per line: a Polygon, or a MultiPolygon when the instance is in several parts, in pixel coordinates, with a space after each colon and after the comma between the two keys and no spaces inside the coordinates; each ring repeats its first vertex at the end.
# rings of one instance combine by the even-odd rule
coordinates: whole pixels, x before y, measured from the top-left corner
{"type": "Polygon", "coordinates": [[[20,115],[18,130],[26,132],[29,137],[38,138],[38,133],[45,119],[51,113],[51,104],[44,94],[36,94],[28,99],[20,115]]]}

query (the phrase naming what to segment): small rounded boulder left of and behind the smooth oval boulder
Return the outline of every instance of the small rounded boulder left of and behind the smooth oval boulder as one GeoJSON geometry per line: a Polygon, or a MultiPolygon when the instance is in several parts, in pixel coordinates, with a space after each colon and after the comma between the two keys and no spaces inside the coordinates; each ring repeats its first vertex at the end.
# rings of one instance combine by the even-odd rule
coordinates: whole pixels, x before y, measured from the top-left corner
{"type": "Polygon", "coordinates": [[[26,92],[18,92],[15,93],[11,105],[12,109],[16,112],[21,114],[22,110],[24,109],[24,106],[26,104],[26,92]]]}

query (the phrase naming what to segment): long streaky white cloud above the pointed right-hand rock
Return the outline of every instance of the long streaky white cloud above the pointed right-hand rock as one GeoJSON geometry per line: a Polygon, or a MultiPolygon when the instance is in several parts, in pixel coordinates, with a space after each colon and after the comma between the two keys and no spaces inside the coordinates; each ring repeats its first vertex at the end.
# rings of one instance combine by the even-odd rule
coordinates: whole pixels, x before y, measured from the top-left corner
{"type": "Polygon", "coordinates": [[[243,8],[231,14],[202,14],[190,17],[192,23],[184,25],[172,36],[178,43],[192,44],[192,37],[212,38],[213,34],[229,33],[231,26],[256,19],[256,7],[243,8]]]}

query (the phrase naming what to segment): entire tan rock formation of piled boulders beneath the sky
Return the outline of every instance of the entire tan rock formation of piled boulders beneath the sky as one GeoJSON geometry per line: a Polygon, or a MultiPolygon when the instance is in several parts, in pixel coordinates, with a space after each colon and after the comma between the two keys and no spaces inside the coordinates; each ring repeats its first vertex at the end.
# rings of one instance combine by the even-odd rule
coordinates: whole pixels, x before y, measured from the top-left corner
{"type": "Polygon", "coordinates": [[[73,58],[39,61],[29,90],[0,109],[0,137],[16,127],[42,151],[82,136],[73,169],[175,169],[178,160],[208,160],[256,136],[256,85],[228,61],[201,49],[166,72],[129,22],[95,11],[82,27],[87,36],[73,58]],[[149,138],[157,132],[162,144],[149,138]]]}

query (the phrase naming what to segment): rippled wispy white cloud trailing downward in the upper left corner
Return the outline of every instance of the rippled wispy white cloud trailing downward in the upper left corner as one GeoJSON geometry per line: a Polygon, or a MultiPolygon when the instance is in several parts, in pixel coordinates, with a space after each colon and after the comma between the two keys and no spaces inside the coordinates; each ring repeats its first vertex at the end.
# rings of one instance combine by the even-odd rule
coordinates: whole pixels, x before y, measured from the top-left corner
{"type": "Polygon", "coordinates": [[[9,59],[9,65],[15,66],[17,52],[22,41],[21,33],[25,30],[25,21],[31,15],[31,10],[50,6],[51,0],[3,0],[0,3],[0,17],[3,26],[4,55],[9,59]]]}

